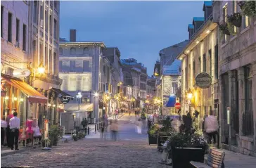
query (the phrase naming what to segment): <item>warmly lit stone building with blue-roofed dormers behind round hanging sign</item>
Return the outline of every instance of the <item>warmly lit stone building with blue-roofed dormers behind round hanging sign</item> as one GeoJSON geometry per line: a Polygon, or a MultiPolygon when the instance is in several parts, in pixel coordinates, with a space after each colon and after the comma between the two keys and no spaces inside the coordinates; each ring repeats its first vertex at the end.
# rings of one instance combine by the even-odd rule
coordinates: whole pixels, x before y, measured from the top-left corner
{"type": "Polygon", "coordinates": [[[205,17],[193,18],[193,24],[188,25],[189,43],[177,57],[181,63],[181,112],[185,115],[197,110],[199,126],[204,115],[217,115],[214,110],[214,101],[217,97],[215,86],[218,82],[218,32],[217,24],[212,22],[212,2],[203,4],[205,17]],[[204,20],[202,22],[202,20],[204,20]],[[210,86],[201,89],[196,85],[196,76],[206,72],[212,78],[210,86]],[[188,91],[192,98],[188,98],[188,91]]]}

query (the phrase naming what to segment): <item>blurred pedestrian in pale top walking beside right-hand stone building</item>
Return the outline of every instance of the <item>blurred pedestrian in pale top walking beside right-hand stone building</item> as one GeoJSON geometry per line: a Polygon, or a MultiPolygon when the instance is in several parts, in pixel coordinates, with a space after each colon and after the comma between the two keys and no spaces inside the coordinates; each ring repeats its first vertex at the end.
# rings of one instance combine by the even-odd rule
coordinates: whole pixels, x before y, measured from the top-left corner
{"type": "Polygon", "coordinates": [[[215,117],[214,115],[209,115],[208,117],[205,117],[204,129],[205,129],[205,134],[208,137],[207,143],[212,144],[212,138],[213,138],[213,143],[214,144],[217,143],[216,136],[218,134],[218,129],[219,129],[217,117],[215,117]]]}

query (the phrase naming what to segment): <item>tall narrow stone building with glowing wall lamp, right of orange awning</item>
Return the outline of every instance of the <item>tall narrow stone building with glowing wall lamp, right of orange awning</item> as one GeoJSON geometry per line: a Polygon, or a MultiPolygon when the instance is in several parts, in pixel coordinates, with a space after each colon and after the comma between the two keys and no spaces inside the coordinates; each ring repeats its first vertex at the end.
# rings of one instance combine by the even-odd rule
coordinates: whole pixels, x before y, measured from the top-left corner
{"type": "Polygon", "coordinates": [[[51,124],[59,122],[62,103],[59,93],[62,79],[58,77],[58,43],[60,25],[60,1],[27,1],[29,5],[28,62],[32,77],[28,82],[48,98],[47,104],[31,104],[31,111],[42,123],[44,117],[51,124]],[[44,73],[34,72],[44,68],[44,73]]]}

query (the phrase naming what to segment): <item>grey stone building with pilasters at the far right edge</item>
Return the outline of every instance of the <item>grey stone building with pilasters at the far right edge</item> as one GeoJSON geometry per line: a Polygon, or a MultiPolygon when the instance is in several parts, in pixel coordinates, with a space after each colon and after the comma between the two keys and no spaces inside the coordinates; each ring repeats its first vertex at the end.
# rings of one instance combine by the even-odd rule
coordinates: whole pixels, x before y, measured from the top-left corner
{"type": "MultiPolygon", "coordinates": [[[[237,2],[215,1],[213,21],[227,23],[227,15],[241,13],[237,2]]],[[[241,27],[233,27],[230,34],[219,37],[215,78],[219,80],[220,141],[222,148],[256,156],[256,18],[242,15],[241,27]]]]}

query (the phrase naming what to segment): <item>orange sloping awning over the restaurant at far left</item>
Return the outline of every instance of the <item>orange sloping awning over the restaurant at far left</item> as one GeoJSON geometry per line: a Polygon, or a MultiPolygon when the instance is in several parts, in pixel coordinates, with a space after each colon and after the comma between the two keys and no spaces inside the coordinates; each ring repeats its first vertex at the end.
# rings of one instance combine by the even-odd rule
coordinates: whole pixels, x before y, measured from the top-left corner
{"type": "Polygon", "coordinates": [[[39,93],[39,91],[34,89],[29,84],[23,82],[22,80],[4,74],[1,74],[1,77],[2,80],[23,92],[25,96],[27,96],[27,100],[30,103],[47,103],[46,97],[44,97],[41,93],[39,93]]]}

